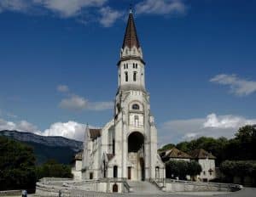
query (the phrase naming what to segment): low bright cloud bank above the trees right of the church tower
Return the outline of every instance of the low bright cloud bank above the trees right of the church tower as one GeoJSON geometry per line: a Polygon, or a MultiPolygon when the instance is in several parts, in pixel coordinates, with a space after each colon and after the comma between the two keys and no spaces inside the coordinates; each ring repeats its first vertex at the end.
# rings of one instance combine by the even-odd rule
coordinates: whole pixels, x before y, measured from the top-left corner
{"type": "Polygon", "coordinates": [[[239,127],[252,125],[256,119],[246,119],[238,115],[210,114],[205,118],[166,121],[160,127],[159,143],[177,143],[201,136],[233,138],[239,127]]]}

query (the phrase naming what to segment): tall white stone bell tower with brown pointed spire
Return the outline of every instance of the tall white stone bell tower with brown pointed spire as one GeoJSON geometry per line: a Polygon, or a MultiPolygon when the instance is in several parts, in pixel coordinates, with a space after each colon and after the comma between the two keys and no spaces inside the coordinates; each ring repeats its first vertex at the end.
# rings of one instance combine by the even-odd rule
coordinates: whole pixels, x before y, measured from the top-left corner
{"type": "Polygon", "coordinates": [[[118,62],[115,98],[115,154],[120,155],[119,177],[147,180],[165,177],[165,166],[157,154],[157,130],[145,87],[145,62],[132,11],[118,62]]]}

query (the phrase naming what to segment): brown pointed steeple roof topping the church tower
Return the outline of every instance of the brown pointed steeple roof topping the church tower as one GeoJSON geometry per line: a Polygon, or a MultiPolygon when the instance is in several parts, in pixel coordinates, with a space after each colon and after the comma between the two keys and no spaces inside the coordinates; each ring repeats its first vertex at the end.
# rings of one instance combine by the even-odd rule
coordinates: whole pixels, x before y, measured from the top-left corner
{"type": "Polygon", "coordinates": [[[130,14],[129,14],[129,18],[126,25],[125,37],[124,37],[122,48],[124,49],[125,46],[127,46],[128,48],[132,48],[133,46],[140,48],[140,42],[137,37],[136,26],[135,26],[131,9],[130,9],[130,14]]]}

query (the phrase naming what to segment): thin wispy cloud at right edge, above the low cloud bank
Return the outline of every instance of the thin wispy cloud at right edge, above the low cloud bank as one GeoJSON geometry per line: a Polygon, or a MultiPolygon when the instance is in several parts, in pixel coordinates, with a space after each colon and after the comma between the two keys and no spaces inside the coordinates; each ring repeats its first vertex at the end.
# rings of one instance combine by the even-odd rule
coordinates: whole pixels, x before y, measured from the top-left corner
{"type": "Polygon", "coordinates": [[[230,87],[230,93],[237,96],[247,96],[256,92],[256,82],[241,79],[236,75],[220,74],[214,76],[210,82],[216,82],[230,87]]]}

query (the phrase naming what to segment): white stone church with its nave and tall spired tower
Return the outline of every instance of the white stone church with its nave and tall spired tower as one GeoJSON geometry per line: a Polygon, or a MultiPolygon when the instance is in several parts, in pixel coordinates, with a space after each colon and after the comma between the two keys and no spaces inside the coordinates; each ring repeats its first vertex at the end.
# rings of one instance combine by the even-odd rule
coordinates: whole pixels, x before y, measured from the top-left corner
{"type": "Polygon", "coordinates": [[[165,164],[157,153],[157,130],[145,87],[147,67],[131,11],[117,65],[113,119],[101,129],[86,127],[82,178],[165,178],[165,164]]]}

